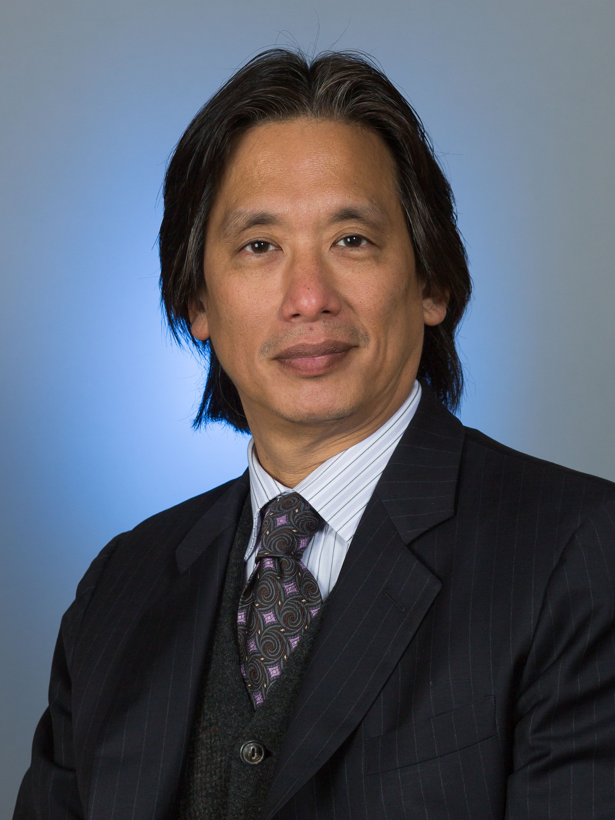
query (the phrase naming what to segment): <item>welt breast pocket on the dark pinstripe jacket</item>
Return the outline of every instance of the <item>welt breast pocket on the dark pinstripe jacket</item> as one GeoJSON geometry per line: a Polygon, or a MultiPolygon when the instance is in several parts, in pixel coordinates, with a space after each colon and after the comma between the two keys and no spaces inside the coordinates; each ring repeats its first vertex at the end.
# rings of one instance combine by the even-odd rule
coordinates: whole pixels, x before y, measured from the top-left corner
{"type": "Polygon", "coordinates": [[[365,744],[367,775],[440,758],[487,740],[495,734],[495,702],[476,700],[451,712],[428,717],[365,744]]]}

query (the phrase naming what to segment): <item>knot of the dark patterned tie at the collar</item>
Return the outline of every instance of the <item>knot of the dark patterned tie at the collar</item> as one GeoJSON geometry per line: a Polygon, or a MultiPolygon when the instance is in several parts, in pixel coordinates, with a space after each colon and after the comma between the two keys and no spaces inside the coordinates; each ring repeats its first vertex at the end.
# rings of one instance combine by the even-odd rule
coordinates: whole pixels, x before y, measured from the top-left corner
{"type": "Polygon", "coordinates": [[[258,557],[294,553],[300,558],[321,521],[298,493],[279,495],[265,508],[258,557]]]}

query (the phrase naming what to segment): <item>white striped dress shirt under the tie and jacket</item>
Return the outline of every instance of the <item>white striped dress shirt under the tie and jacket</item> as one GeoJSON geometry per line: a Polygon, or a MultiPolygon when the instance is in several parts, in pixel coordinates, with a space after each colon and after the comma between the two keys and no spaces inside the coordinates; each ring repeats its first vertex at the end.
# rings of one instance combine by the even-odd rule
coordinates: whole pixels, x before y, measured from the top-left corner
{"type": "Polygon", "coordinates": [[[244,557],[246,581],[254,568],[262,508],[277,495],[295,492],[312,504],[325,522],[307,544],[303,563],[316,578],[323,601],[326,599],[338,579],[363,510],[420,399],[421,385],[415,381],[408,399],[389,421],[367,439],[322,463],[293,490],[271,478],[262,468],[254,440],[250,439],[248,469],[253,526],[244,557]]]}

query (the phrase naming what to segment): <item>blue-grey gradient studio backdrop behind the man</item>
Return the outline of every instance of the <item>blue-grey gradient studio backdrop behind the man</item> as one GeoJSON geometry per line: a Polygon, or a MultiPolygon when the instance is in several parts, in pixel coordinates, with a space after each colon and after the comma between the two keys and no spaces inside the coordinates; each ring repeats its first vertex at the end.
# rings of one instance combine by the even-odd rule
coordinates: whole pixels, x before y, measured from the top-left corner
{"type": "Polygon", "coordinates": [[[194,434],[198,365],[162,331],[166,157],[274,43],[371,52],[426,122],[476,298],[462,418],[615,479],[612,0],[4,0],[0,10],[0,816],[57,627],[112,535],[243,471],[194,434]]]}

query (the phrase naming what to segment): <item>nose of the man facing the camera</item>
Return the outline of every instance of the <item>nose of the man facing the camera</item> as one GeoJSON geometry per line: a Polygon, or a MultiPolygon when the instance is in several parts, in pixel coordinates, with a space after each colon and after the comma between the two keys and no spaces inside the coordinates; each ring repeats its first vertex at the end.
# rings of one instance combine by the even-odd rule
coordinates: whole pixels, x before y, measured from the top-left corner
{"type": "Polygon", "coordinates": [[[285,271],[285,293],[280,306],[284,321],[312,322],[335,317],[342,302],[335,280],[316,251],[307,249],[289,262],[285,271]]]}

